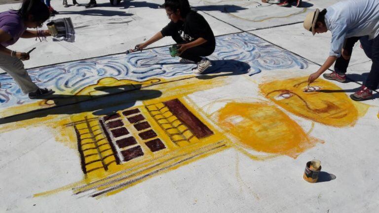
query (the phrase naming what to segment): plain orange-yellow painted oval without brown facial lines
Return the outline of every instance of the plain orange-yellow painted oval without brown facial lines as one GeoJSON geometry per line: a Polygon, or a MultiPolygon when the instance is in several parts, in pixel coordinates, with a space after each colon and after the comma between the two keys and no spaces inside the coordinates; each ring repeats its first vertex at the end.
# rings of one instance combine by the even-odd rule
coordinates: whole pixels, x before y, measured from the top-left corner
{"type": "Polygon", "coordinates": [[[219,125],[256,151],[296,158],[318,140],[309,138],[295,121],[267,103],[228,103],[218,112],[219,125]]]}

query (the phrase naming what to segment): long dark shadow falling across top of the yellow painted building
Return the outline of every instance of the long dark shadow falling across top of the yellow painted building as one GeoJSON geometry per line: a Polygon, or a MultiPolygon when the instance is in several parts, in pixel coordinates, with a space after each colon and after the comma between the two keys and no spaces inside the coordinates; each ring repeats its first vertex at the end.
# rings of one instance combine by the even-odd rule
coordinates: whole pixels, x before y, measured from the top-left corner
{"type": "Polygon", "coordinates": [[[32,118],[57,114],[76,114],[92,111],[95,115],[110,115],[118,110],[134,106],[136,101],[158,98],[162,92],[141,89],[141,85],[128,84],[121,86],[101,86],[87,95],[48,96],[43,103],[52,104],[49,108],[41,108],[26,113],[0,118],[0,124],[12,123],[32,118]]]}

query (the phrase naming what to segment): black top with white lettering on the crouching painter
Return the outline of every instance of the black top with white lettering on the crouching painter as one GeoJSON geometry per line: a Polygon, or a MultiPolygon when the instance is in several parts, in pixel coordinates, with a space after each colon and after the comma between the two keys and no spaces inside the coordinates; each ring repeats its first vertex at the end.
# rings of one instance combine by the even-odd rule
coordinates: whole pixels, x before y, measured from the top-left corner
{"type": "Polygon", "coordinates": [[[199,37],[207,40],[204,46],[214,47],[216,45],[215,36],[204,17],[195,11],[187,14],[185,21],[177,23],[170,22],[161,31],[162,36],[172,36],[177,43],[188,43],[199,37]]]}

